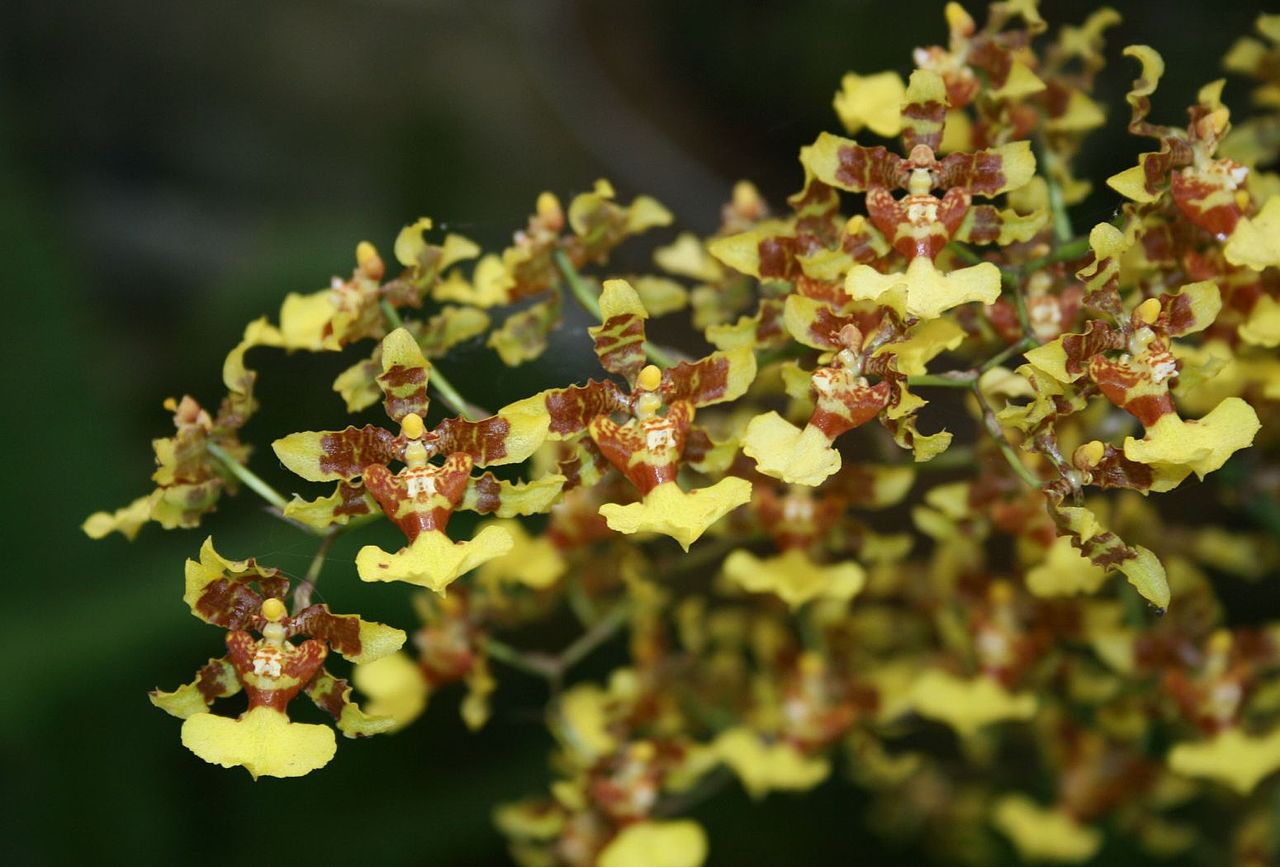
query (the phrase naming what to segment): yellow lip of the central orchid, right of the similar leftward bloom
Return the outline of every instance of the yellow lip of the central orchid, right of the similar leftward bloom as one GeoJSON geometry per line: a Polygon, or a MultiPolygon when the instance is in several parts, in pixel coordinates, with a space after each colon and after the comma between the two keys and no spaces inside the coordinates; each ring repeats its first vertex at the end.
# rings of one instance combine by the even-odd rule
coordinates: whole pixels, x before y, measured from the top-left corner
{"type": "Polygon", "coordinates": [[[639,503],[600,506],[600,515],[618,533],[663,533],[689,551],[712,524],[750,499],[751,483],[737,476],[687,493],[666,482],[639,503]]]}

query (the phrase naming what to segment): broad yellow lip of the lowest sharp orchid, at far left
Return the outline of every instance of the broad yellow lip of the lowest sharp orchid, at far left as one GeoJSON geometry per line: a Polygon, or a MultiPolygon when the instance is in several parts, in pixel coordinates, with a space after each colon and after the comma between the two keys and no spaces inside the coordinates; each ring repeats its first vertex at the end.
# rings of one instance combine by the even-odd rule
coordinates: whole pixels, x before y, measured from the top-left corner
{"type": "Polygon", "coordinates": [[[182,724],[182,744],[210,765],[239,765],[255,780],[310,774],[328,765],[338,748],[329,726],[289,722],[269,707],[238,720],[197,713],[182,724]]]}

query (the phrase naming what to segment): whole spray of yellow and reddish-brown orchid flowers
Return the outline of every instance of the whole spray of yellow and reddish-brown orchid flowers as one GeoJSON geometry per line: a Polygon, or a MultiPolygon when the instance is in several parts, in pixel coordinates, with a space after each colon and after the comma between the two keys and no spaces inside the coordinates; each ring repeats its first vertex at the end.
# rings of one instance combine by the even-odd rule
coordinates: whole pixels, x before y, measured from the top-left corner
{"type": "Polygon", "coordinates": [[[609,255],[672,215],[600,181],[567,210],[543,193],[506,250],[431,241],[426,218],[398,270],[362,242],[349,279],[251,323],[216,416],[166,405],[155,490],[84,524],[191,528],[250,488],[319,538],[302,579],[211,540],[187,563],[227,653],[152,693],[182,743],[300,776],[335,739],[289,720],[298,693],[358,738],[463,683],[475,729],[502,676],[530,675],[557,749],[547,793],[494,814],[521,863],[696,867],[710,843],[681,813],[701,798],[837,767],[877,829],[974,863],[1083,863],[1115,836],[1280,858],[1280,621],[1220,598],[1280,567],[1280,18],[1226,58],[1256,86],[1236,126],[1225,79],[1185,128],[1155,123],[1162,60],[1126,47],[1128,129],[1157,150],[1094,188],[1074,163],[1117,20],[1051,35],[1036,0],[982,27],[948,4],[946,46],[905,81],[845,77],[835,108],[861,140],[803,147],[780,209],[740,183],[718,232],[667,236],[654,273],[609,255]],[[1078,236],[1091,195],[1119,195],[1115,216],[1078,236]],[[600,370],[495,412],[449,380],[466,342],[536,360],[571,300],[600,370]],[[680,312],[701,339],[677,348],[652,325],[680,312]],[[392,423],[280,432],[279,461],[330,485],[314,498],[248,466],[260,347],[353,352],[333,389],[392,423]],[[462,534],[457,511],[485,517],[462,534]],[[381,519],[403,546],[344,571],[416,588],[408,651],[311,603],[333,539],[381,519]],[[581,624],[561,652],[507,643],[561,607],[581,624]],[[622,635],[607,683],[573,679],[622,635]],[[241,692],[238,716],[211,712],[241,692]],[[1224,799],[1229,823],[1188,808],[1224,799]]]}

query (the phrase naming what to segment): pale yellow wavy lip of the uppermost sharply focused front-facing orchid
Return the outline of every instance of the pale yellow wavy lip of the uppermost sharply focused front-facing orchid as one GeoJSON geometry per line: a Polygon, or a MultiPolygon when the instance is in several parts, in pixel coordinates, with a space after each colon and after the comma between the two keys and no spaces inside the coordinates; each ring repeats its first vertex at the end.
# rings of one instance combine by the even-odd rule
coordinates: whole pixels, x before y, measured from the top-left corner
{"type": "Polygon", "coordinates": [[[905,287],[904,311],[920,319],[937,319],[951,307],[969,301],[992,304],[1000,297],[1000,269],[991,263],[943,274],[925,256],[916,256],[905,274],[881,274],[858,265],[845,280],[845,292],[856,301],[878,301],[905,287]]]}

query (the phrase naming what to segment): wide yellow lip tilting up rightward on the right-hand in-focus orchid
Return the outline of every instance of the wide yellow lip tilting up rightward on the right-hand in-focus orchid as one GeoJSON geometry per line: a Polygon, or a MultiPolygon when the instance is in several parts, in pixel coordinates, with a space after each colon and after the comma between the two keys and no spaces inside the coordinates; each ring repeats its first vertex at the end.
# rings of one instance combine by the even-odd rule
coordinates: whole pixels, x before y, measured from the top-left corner
{"type": "MultiPolygon", "coordinates": [[[[1171,478],[1185,469],[1199,478],[1222,466],[1236,451],[1253,443],[1262,425],[1253,407],[1239,397],[1228,397],[1199,421],[1183,421],[1175,414],[1162,415],[1142,439],[1129,437],[1124,456],[1130,461],[1166,470],[1171,478]]],[[[1176,485],[1155,484],[1152,490],[1176,485]]]]}

